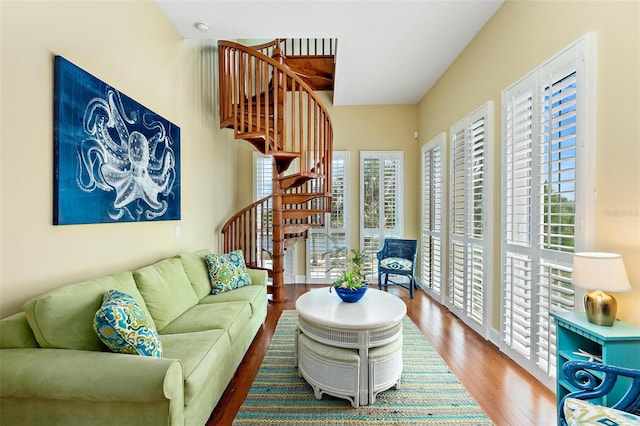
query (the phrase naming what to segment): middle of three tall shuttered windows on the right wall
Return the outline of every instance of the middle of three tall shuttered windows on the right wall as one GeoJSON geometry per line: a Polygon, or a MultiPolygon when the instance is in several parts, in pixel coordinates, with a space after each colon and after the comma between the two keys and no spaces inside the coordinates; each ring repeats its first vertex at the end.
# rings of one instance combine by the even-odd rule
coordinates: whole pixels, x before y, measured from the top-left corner
{"type": "Polygon", "coordinates": [[[447,305],[480,335],[487,335],[492,254],[491,147],[493,103],[450,129],[449,288],[447,305]]]}

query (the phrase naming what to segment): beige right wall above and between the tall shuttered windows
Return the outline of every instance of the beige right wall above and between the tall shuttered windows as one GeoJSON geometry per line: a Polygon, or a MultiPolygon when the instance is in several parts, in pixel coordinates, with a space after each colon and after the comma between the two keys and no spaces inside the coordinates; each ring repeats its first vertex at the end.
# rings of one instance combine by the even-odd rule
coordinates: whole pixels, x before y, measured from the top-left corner
{"type": "MultiPolygon", "coordinates": [[[[584,33],[597,37],[595,241],[621,253],[633,290],[617,293],[618,317],[640,326],[640,2],[508,0],[419,104],[421,143],[487,100],[495,105],[495,164],[501,91],[584,33]]],[[[499,171],[497,171],[499,172],[499,171]]],[[[494,193],[500,194],[500,175],[494,193]]],[[[492,229],[500,247],[500,205],[492,229]]],[[[493,327],[499,328],[496,256],[493,327]]]]}

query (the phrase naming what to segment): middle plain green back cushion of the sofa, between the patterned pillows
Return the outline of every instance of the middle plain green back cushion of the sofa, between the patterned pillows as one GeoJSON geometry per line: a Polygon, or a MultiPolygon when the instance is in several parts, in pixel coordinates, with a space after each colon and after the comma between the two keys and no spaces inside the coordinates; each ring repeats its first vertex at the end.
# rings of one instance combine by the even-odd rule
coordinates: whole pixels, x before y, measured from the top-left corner
{"type": "Polygon", "coordinates": [[[178,258],[133,271],[133,277],[158,331],[198,303],[198,296],[178,258]]]}

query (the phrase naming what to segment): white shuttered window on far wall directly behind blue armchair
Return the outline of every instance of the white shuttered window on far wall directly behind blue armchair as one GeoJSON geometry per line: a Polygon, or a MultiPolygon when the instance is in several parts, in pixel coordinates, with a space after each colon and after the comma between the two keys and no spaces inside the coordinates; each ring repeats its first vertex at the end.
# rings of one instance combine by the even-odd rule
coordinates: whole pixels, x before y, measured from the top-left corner
{"type": "Polygon", "coordinates": [[[402,238],[403,176],[402,151],[360,152],[360,249],[370,277],[384,239],[402,238]]]}

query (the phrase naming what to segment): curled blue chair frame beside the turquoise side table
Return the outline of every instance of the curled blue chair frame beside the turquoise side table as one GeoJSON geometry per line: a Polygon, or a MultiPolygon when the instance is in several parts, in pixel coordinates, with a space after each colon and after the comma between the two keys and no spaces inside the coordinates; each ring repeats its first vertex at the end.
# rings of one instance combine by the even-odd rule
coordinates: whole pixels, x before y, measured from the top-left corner
{"type": "MultiPolygon", "coordinates": [[[[611,408],[640,416],[640,370],[616,367],[590,361],[568,361],[562,366],[562,372],[569,384],[578,389],[562,398],[558,410],[558,424],[567,425],[564,404],[567,398],[581,400],[597,399],[607,395],[616,381],[630,378],[624,395],[618,400],[609,401],[611,408]]],[[[628,380],[628,379],[627,379],[628,380]]]]}

